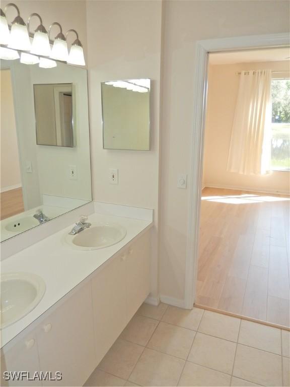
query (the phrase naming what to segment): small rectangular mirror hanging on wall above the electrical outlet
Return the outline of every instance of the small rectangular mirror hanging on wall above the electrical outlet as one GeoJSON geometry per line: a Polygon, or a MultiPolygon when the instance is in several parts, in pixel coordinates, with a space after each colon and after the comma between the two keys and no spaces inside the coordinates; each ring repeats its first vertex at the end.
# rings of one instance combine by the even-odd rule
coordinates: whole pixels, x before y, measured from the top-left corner
{"type": "Polygon", "coordinates": [[[150,79],[101,83],[103,148],[150,150],[150,79]]]}

